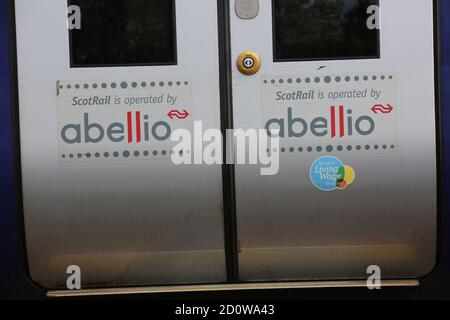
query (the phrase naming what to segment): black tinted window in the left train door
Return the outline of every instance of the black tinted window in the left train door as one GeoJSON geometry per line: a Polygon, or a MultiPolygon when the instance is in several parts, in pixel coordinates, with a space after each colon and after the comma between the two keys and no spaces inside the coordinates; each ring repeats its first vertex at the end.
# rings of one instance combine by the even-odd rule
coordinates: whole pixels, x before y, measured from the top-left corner
{"type": "Polygon", "coordinates": [[[69,0],[81,9],[71,30],[71,65],[176,64],[173,0],[69,0]]]}

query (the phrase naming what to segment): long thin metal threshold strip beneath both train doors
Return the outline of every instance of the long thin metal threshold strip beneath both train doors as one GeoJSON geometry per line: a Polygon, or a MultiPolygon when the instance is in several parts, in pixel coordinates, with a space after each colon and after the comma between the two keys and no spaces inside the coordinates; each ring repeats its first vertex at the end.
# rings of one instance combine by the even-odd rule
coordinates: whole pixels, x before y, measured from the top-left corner
{"type": "MultiPolygon", "coordinates": [[[[382,287],[417,287],[418,280],[384,280],[382,287]]],[[[305,281],[305,282],[267,282],[241,284],[211,284],[211,285],[183,285],[183,286],[153,286],[110,289],[61,290],[49,291],[47,297],[88,297],[149,293],[176,292],[213,292],[233,290],[274,290],[274,289],[320,289],[320,288],[363,288],[367,286],[365,280],[355,281],[305,281]]]]}

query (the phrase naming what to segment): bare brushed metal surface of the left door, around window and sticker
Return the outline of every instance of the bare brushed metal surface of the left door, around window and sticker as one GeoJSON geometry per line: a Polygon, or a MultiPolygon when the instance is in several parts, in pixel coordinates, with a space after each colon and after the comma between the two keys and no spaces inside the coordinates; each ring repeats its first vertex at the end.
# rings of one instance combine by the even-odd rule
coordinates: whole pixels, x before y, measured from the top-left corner
{"type": "Polygon", "coordinates": [[[205,129],[219,128],[216,2],[196,2],[205,13],[199,17],[190,1],[176,1],[176,66],[114,68],[69,67],[66,6],[59,0],[15,5],[31,279],[65,288],[66,268],[78,265],[84,288],[225,281],[220,166],[176,166],[170,156],[59,161],[55,93],[61,79],[187,78],[190,111],[205,129]]]}

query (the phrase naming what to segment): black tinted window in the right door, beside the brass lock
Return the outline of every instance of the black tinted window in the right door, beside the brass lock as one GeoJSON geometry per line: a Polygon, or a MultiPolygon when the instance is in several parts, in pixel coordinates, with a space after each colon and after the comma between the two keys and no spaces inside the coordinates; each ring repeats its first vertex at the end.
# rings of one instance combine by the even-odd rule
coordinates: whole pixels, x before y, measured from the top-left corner
{"type": "Polygon", "coordinates": [[[378,0],[273,0],[274,60],[378,58],[379,30],[367,9],[378,0]]]}

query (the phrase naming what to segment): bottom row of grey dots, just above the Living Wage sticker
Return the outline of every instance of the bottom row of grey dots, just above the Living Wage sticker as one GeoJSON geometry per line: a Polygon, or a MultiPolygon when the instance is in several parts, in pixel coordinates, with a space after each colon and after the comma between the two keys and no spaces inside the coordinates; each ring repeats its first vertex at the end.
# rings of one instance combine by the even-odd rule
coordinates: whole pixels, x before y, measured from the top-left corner
{"type": "MultiPolygon", "coordinates": [[[[351,152],[351,151],[388,151],[394,150],[396,146],[394,144],[356,144],[356,145],[317,145],[317,146],[283,146],[279,148],[280,153],[330,153],[330,152],[351,152]]],[[[270,152],[270,149],[267,149],[266,152],[270,152]]],[[[273,149],[274,152],[277,152],[278,149],[273,149]]]]}

